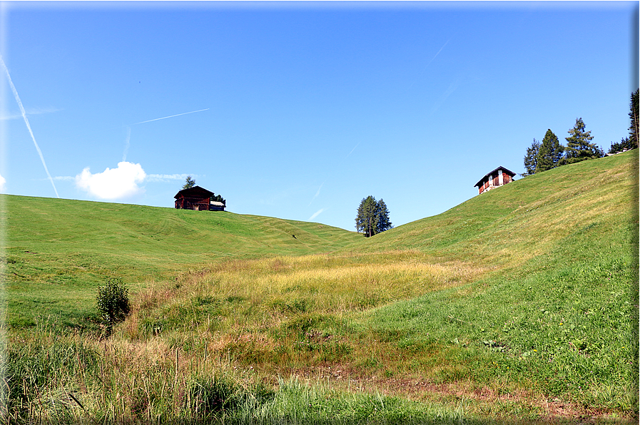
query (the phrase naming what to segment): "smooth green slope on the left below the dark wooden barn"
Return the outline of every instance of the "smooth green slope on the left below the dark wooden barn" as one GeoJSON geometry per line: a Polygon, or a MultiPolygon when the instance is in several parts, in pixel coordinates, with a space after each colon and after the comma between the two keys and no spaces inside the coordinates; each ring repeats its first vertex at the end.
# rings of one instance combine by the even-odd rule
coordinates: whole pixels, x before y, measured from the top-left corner
{"type": "Polygon", "coordinates": [[[14,326],[50,315],[82,323],[107,277],[137,290],[225,258],[321,253],[358,238],[318,223],[230,212],[2,197],[14,326]]]}

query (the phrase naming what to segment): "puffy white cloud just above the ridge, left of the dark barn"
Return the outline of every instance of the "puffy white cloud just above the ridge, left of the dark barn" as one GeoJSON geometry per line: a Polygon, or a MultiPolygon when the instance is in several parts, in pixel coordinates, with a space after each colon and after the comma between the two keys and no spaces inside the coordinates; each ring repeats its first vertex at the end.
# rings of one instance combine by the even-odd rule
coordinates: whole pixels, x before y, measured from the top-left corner
{"type": "Polygon", "coordinates": [[[76,186],[96,198],[131,198],[144,192],[138,184],[143,183],[146,173],[140,164],[122,161],[118,168],[107,168],[102,173],[91,174],[89,168],[76,175],[76,186]]]}

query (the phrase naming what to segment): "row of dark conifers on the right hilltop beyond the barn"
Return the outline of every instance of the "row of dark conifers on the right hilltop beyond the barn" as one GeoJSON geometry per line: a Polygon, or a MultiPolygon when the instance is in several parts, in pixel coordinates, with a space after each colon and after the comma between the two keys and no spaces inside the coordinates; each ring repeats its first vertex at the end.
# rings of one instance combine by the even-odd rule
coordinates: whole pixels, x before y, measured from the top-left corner
{"type": "MultiPolygon", "coordinates": [[[[638,89],[631,93],[629,137],[623,138],[619,143],[611,142],[611,148],[609,149],[611,154],[638,147],[640,133],[638,123],[639,93],[638,89]]],[[[605,155],[604,150],[595,143],[591,143],[593,138],[591,131],[585,130],[582,118],[576,118],[576,124],[569,130],[569,137],[565,138],[567,140],[566,146],[559,142],[557,135],[551,129],[548,129],[542,139],[542,143],[534,138],[532,145],[527,148],[527,153],[524,155],[525,171],[522,176],[540,173],[583,160],[602,158],[605,155]]]]}

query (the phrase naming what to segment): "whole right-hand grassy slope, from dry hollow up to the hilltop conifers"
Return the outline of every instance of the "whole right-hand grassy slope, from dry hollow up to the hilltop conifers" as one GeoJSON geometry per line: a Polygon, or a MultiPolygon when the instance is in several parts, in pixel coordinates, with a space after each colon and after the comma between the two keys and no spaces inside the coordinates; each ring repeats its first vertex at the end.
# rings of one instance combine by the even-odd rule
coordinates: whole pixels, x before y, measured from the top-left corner
{"type": "Polygon", "coordinates": [[[524,386],[583,414],[637,415],[637,155],[532,175],[359,245],[484,267],[473,282],[355,318],[388,341],[374,361],[395,374],[392,357],[411,353],[437,382],[524,386]]]}

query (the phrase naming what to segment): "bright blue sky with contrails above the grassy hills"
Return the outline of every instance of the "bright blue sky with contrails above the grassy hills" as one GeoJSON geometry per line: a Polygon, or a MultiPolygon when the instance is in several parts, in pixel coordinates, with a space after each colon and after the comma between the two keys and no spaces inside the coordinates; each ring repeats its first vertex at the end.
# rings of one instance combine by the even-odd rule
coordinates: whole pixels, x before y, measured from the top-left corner
{"type": "Polygon", "coordinates": [[[173,208],[192,175],[233,213],[355,230],[373,195],[402,225],[523,173],[548,128],[628,135],[637,20],[636,1],[4,2],[0,188],[173,208]]]}

